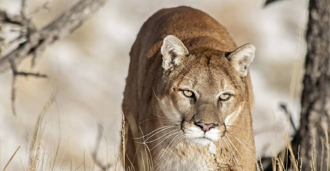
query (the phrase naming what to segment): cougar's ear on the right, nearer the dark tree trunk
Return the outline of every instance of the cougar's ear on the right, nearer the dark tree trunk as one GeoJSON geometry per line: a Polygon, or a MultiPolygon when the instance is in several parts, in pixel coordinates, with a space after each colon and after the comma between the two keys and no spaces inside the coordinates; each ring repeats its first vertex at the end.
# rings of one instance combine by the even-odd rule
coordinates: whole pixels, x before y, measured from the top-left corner
{"type": "Polygon", "coordinates": [[[242,77],[247,76],[248,66],[254,58],[255,47],[248,43],[231,52],[227,58],[242,77]]]}

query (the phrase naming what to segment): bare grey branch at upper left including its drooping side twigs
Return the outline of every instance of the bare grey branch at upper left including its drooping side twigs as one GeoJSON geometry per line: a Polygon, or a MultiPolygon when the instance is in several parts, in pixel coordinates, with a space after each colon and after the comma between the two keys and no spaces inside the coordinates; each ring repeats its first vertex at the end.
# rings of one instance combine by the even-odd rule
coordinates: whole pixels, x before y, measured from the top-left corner
{"type": "MultiPolygon", "coordinates": [[[[18,15],[10,15],[0,10],[0,26],[10,24],[20,27],[19,36],[8,45],[12,48],[3,48],[0,38],[0,74],[8,70],[13,72],[11,100],[14,115],[16,115],[14,105],[16,96],[14,87],[16,76],[47,77],[47,75],[40,73],[17,71],[16,66],[22,59],[32,55],[31,66],[33,67],[36,57],[38,57],[49,44],[69,35],[80,27],[82,23],[102,7],[106,1],[107,0],[80,0],[71,9],[63,12],[59,17],[41,29],[37,29],[35,24],[31,21],[31,18],[26,16],[26,0],[21,0],[21,9],[18,15]]],[[[42,8],[47,9],[47,4],[48,3],[43,5],[42,8]]],[[[38,11],[39,10],[36,10],[35,12],[38,11]]]]}

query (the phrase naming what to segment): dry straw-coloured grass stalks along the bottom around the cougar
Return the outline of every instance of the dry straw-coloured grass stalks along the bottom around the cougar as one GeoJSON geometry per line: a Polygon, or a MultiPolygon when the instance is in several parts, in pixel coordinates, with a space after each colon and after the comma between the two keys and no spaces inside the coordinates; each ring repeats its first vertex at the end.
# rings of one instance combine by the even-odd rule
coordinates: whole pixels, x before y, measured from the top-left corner
{"type": "MultiPolygon", "coordinates": [[[[69,144],[69,140],[67,143],[67,146],[65,148],[64,154],[61,158],[58,157],[58,152],[59,152],[59,147],[60,147],[60,143],[61,143],[61,136],[60,136],[60,130],[59,130],[59,138],[57,141],[56,146],[54,145],[54,149],[53,149],[53,158],[52,161],[49,161],[49,157],[46,158],[46,154],[45,152],[43,152],[43,133],[45,131],[45,127],[46,127],[46,123],[47,122],[43,122],[44,120],[44,116],[47,112],[47,109],[49,108],[49,106],[51,106],[54,102],[54,98],[50,98],[49,100],[47,100],[47,102],[44,105],[43,110],[40,113],[38,122],[36,124],[36,130],[35,130],[35,134],[34,134],[34,138],[33,140],[30,142],[31,146],[30,146],[30,158],[28,161],[28,167],[27,167],[27,171],[43,171],[43,170],[88,170],[88,171],[94,171],[94,170],[98,170],[98,167],[95,167],[95,165],[98,165],[99,168],[101,168],[102,170],[114,170],[114,171],[122,171],[123,169],[123,165],[125,164],[125,162],[129,162],[129,164],[131,166],[129,166],[127,169],[125,170],[129,170],[129,171],[135,171],[135,168],[133,167],[133,164],[131,162],[131,160],[128,158],[129,161],[125,161],[125,157],[127,156],[124,152],[125,152],[125,116],[122,113],[122,127],[121,127],[121,137],[123,140],[122,143],[122,154],[117,154],[114,155],[115,156],[115,163],[114,165],[109,165],[107,164],[106,166],[101,166],[100,162],[95,161],[94,165],[92,168],[86,168],[86,164],[85,164],[85,160],[84,162],[79,165],[79,167],[77,168],[73,168],[72,167],[72,160],[71,161],[66,161],[65,164],[63,161],[64,158],[64,154],[67,151],[68,148],[68,144],[69,144]],[[118,157],[119,155],[119,157],[118,157]],[[59,159],[59,161],[57,160],[59,159]],[[57,162],[56,162],[57,161],[57,162]],[[68,163],[71,163],[71,167],[67,168],[66,165],[68,163]]],[[[55,101],[56,103],[56,101],[55,101]]],[[[60,124],[60,123],[59,123],[60,124]]],[[[103,133],[105,134],[105,131],[102,128],[103,133]]],[[[311,167],[311,171],[317,171],[318,169],[316,168],[317,166],[317,162],[321,162],[321,165],[323,166],[323,163],[326,163],[326,171],[330,171],[329,166],[330,166],[330,144],[329,144],[329,137],[328,137],[328,130],[326,127],[324,127],[324,137],[320,137],[321,143],[322,143],[322,155],[320,159],[317,159],[316,157],[316,149],[315,145],[311,148],[311,154],[312,154],[312,160],[311,161],[306,161],[304,162],[305,165],[306,164],[310,164],[311,167]],[[324,156],[325,155],[325,156],[324,156]],[[324,156],[324,157],[323,157],[324,156]]],[[[105,141],[106,141],[106,146],[108,149],[108,143],[107,143],[107,138],[106,136],[104,137],[105,141]]],[[[283,152],[278,155],[278,156],[274,156],[272,159],[272,166],[273,166],[273,171],[301,171],[303,168],[303,158],[299,157],[299,149],[298,149],[298,154],[297,154],[297,158],[295,158],[295,154],[294,154],[294,150],[292,149],[291,146],[291,142],[288,138],[285,139],[286,140],[286,149],[283,150],[283,152]],[[290,165],[286,165],[286,161],[290,160],[290,165]]],[[[315,141],[314,141],[315,144],[315,141]]],[[[19,146],[20,147],[20,146],[19,146]]],[[[11,160],[15,157],[15,154],[17,153],[17,151],[19,150],[19,147],[17,148],[17,150],[15,151],[15,153],[12,155],[12,157],[10,158],[10,160],[8,161],[7,165],[4,167],[3,171],[5,171],[6,169],[8,169],[8,166],[10,166],[10,162],[11,160]]],[[[97,153],[97,152],[96,152],[97,153]]],[[[153,163],[152,163],[152,158],[151,158],[151,154],[150,154],[150,150],[149,147],[147,146],[147,144],[144,144],[144,149],[140,150],[141,153],[141,158],[139,161],[140,162],[140,166],[141,169],[144,171],[153,171],[153,163]]],[[[97,157],[97,155],[96,155],[97,157]]],[[[84,158],[85,158],[85,153],[84,153],[84,158]]],[[[106,157],[107,161],[108,161],[108,154],[106,157]]],[[[264,170],[264,166],[262,165],[261,162],[261,158],[259,158],[259,162],[257,162],[257,170],[258,171],[263,171],[264,170]]],[[[23,163],[22,163],[23,165],[23,163]]],[[[320,170],[322,170],[323,168],[320,168],[320,170]]],[[[24,167],[23,167],[23,169],[24,167]]]]}

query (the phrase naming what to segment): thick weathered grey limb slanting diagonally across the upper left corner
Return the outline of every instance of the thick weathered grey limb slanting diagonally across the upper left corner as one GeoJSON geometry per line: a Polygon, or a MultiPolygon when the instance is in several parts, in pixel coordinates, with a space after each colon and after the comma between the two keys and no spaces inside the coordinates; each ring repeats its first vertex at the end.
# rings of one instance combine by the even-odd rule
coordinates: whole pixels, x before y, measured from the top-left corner
{"type": "MultiPolygon", "coordinates": [[[[31,29],[27,33],[27,41],[20,43],[16,49],[0,58],[0,73],[10,69],[9,61],[12,60],[17,65],[22,59],[28,55],[40,54],[47,45],[63,38],[77,29],[86,19],[94,14],[107,0],[81,0],[71,9],[64,12],[61,16],[53,20],[41,30],[31,29]]],[[[16,19],[9,17],[7,13],[0,11],[0,22],[10,22],[17,24],[23,23],[23,26],[35,28],[28,19],[16,19]]],[[[35,63],[32,60],[32,65],[35,63]]]]}

